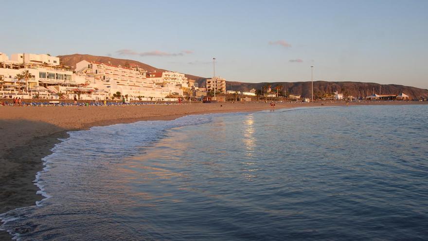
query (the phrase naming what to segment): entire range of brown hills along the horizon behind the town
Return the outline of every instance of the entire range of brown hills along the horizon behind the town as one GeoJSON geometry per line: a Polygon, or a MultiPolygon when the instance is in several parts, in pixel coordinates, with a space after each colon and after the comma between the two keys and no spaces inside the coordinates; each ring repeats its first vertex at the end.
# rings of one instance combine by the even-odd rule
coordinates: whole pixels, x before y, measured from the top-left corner
{"type": "MultiPolygon", "coordinates": [[[[132,60],[132,59],[120,59],[113,58],[108,56],[92,56],[92,55],[64,55],[58,56],[60,62],[63,65],[76,66],[81,60],[87,61],[96,61],[101,63],[110,63],[113,65],[122,65],[126,64],[136,64],[148,72],[165,72],[167,70],[159,69],[148,64],[132,60]]],[[[196,76],[192,74],[186,74],[186,77],[189,79],[194,79],[199,86],[205,86],[206,77],[196,76]]],[[[226,89],[236,90],[236,91],[249,91],[250,89],[261,90],[264,86],[270,85],[274,88],[277,85],[283,86],[281,92],[291,93],[291,94],[300,94],[303,97],[310,97],[311,92],[311,82],[310,81],[300,81],[300,82],[261,82],[261,83],[245,83],[238,81],[226,81],[226,89]]],[[[353,95],[355,97],[363,97],[370,95],[372,93],[381,93],[381,94],[399,94],[405,93],[409,95],[410,99],[419,99],[421,97],[428,97],[427,89],[420,89],[416,87],[404,86],[404,85],[395,85],[395,84],[377,84],[377,83],[365,83],[365,82],[351,82],[351,81],[314,81],[314,95],[321,96],[323,93],[333,93],[333,92],[344,93],[345,95],[353,95]]]]}

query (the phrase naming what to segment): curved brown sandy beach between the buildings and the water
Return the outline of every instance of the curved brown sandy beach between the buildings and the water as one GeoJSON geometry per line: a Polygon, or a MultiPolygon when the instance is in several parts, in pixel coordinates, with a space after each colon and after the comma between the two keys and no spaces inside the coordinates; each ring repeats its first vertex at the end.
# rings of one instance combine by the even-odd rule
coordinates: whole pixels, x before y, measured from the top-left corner
{"type": "MultiPolygon", "coordinates": [[[[324,102],[322,107],[346,106],[345,102],[324,102]]],[[[427,102],[351,102],[356,105],[423,105],[427,102]]],[[[321,103],[277,103],[275,109],[321,107],[321,103]]],[[[0,135],[7,140],[0,149],[0,214],[18,207],[35,205],[43,196],[33,181],[43,168],[43,157],[69,131],[87,130],[137,121],[174,120],[191,114],[253,112],[272,109],[269,103],[193,103],[171,106],[125,107],[0,107],[0,135]],[[25,111],[24,111],[25,110],[25,111]],[[82,117],[83,116],[83,117],[82,117]]],[[[0,231],[0,240],[11,236],[0,231]]]]}

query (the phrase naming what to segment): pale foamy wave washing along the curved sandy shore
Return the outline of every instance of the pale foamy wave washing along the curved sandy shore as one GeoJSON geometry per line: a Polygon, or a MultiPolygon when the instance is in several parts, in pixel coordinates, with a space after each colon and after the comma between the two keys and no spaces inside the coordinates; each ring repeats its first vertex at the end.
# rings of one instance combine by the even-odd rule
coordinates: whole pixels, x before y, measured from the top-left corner
{"type": "MultiPolygon", "coordinates": [[[[20,207],[0,214],[0,230],[7,231],[13,236],[13,240],[21,240],[22,230],[16,224],[23,222],[27,209],[41,207],[47,200],[55,196],[46,185],[49,177],[46,177],[52,168],[64,165],[75,165],[77,168],[85,168],[85,163],[79,158],[108,156],[110,159],[120,160],[139,153],[140,148],[154,145],[155,142],[165,137],[165,132],[173,128],[189,125],[209,123],[216,116],[236,115],[242,113],[215,113],[198,114],[179,117],[169,121],[138,121],[135,123],[115,124],[110,126],[92,127],[89,130],[68,132],[69,137],[60,139],[61,142],[52,148],[52,153],[44,158],[43,169],[36,173],[33,183],[39,188],[36,192],[43,196],[33,206],[20,207]],[[67,162],[67,160],[72,160],[67,162]],[[19,221],[19,222],[18,222],[19,221]]],[[[94,158],[96,161],[96,158],[94,158]]],[[[92,163],[93,164],[93,163],[92,163]]],[[[96,164],[95,164],[96,165],[96,164]]],[[[103,168],[102,164],[99,168],[103,168]]],[[[55,180],[54,180],[55,181],[55,180]]],[[[59,181],[59,180],[56,180],[59,181]]]]}

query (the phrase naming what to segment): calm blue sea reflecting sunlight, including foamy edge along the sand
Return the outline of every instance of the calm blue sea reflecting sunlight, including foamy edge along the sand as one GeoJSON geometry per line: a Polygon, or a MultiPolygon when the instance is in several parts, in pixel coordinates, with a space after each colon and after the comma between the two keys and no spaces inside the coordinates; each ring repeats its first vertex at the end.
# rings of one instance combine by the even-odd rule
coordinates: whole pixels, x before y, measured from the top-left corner
{"type": "Polygon", "coordinates": [[[194,115],[70,133],[21,241],[428,240],[428,106],[194,115]]]}

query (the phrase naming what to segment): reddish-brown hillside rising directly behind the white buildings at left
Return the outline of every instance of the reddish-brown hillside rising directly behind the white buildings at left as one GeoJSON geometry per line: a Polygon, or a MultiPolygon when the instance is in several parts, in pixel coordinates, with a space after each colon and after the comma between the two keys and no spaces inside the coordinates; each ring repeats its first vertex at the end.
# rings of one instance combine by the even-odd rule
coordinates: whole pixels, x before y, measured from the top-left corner
{"type": "MultiPolygon", "coordinates": [[[[112,58],[112,57],[107,57],[107,56],[93,56],[93,55],[80,55],[80,54],[63,55],[63,56],[57,56],[57,57],[59,57],[60,63],[62,63],[64,65],[72,66],[74,68],[76,67],[76,63],[78,63],[82,60],[87,60],[87,61],[96,61],[96,62],[101,62],[101,63],[108,63],[110,61],[110,63],[113,65],[122,65],[122,66],[125,66],[126,63],[137,64],[138,66],[140,66],[141,68],[143,68],[144,70],[146,70],[148,72],[154,72],[154,71],[165,72],[166,71],[164,69],[158,69],[158,68],[155,68],[155,67],[150,66],[148,64],[144,64],[142,62],[132,60],[132,59],[121,59],[121,58],[112,58]]],[[[203,77],[195,76],[195,75],[191,75],[191,74],[186,74],[186,77],[189,79],[195,79],[196,81],[199,81],[201,79],[205,79],[203,77]]]]}

